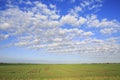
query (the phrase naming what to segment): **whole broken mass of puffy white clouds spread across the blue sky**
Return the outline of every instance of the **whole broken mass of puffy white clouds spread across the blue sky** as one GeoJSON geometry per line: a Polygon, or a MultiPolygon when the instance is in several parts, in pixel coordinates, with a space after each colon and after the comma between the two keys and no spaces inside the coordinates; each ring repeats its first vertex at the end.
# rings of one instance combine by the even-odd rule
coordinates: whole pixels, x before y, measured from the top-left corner
{"type": "Polygon", "coordinates": [[[120,23],[100,20],[96,15],[79,15],[83,8],[95,2],[101,0],[85,0],[65,15],[58,13],[57,6],[39,1],[27,1],[26,5],[32,5],[30,8],[13,5],[0,11],[0,40],[12,36],[16,38],[13,46],[45,49],[49,53],[117,53],[118,39],[97,39],[97,33],[91,29],[112,35],[120,31],[120,23]]]}

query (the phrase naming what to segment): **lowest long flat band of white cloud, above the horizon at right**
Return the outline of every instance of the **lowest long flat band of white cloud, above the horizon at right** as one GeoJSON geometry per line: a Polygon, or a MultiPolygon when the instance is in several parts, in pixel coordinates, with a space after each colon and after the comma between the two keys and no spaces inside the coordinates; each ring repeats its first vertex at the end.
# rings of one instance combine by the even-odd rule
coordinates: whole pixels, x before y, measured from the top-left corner
{"type": "Polygon", "coordinates": [[[78,53],[78,54],[85,54],[85,53],[89,53],[89,54],[98,54],[98,53],[116,53],[119,52],[119,47],[118,45],[112,45],[112,47],[110,45],[72,45],[71,47],[67,47],[67,48],[53,48],[53,49],[49,49],[49,51],[51,53],[78,53]],[[77,46],[77,47],[74,47],[77,46]],[[92,46],[92,47],[91,47],[92,46]]]}

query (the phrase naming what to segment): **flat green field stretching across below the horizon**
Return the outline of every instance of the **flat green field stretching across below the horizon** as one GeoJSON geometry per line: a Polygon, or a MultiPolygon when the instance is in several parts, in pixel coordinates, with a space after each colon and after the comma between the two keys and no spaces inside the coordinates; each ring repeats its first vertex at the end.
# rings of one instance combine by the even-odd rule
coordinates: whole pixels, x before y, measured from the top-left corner
{"type": "Polygon", "coordinates": [[[120,64],[0,64],[0,80],[120,80],[120,64]]]}

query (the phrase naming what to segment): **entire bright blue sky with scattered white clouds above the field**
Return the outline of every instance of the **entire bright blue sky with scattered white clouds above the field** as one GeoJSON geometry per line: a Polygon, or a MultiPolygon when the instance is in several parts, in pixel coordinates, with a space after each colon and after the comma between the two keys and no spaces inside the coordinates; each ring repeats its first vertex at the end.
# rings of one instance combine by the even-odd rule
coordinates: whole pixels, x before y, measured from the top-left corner
{"type": "Polygon", "coordinates": [[[0,62],[120,63],[120,0],[0,0],[0,62]]]}

